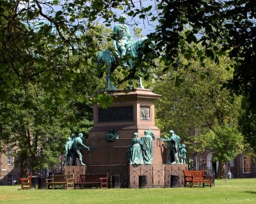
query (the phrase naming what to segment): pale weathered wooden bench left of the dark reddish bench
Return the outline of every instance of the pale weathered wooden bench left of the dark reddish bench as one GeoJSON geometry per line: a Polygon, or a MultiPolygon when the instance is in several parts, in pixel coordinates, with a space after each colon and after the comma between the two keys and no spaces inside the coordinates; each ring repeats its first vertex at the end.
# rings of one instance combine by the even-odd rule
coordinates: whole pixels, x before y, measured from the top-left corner
{"type": "Polygon", "coordinates": [[[46,189],[48,189],[48,185],[52,186],[52,189],[54,189],[54,185],[63,185],[67,189],[74,189],[74,175],[52,175],[52,178],[46,179],[46,189]]]}

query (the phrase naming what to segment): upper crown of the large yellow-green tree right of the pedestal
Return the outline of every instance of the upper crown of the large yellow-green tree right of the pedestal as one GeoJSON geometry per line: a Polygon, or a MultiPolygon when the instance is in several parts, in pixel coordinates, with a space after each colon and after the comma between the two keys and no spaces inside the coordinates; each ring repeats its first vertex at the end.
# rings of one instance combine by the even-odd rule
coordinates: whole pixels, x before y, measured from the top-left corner
{"type": "Polygon", "coordinates": [[[188,67],[162,75],[154,87],[154,91],[162,95],[156,102],[156,117],[157,125],[164,132],[175,129],[187,136],[188,132],[196,130],[201,134],[204,129],[211,129],[214,122],[222,125],[225,121],[237,120],[240,98],[231,97],[222,87],[232,79],[232,69],[225,69],[230,63],[227,56],[220,58],[219,65],[205,60],[205,67],[202,67],[196,60],[201,51],[202,46],[198,45],[190,53],[195,58],[190,61],[180,54],[182,63],[188,67]]]}

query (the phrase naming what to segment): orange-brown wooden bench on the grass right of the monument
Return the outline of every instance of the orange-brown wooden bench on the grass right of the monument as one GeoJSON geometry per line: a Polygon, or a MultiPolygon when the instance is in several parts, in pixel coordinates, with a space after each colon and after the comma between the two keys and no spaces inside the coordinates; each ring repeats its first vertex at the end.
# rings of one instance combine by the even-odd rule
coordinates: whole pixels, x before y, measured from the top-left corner
{"type": "Polygon", "coordinates": [[[187,183],[191,183],[191,187],[194,187],[194,184],[210,184],[212,187],[213,177],[205,175],[205,171],[186,171],[184,170],[184,187],[187,186],[187,183]]]}

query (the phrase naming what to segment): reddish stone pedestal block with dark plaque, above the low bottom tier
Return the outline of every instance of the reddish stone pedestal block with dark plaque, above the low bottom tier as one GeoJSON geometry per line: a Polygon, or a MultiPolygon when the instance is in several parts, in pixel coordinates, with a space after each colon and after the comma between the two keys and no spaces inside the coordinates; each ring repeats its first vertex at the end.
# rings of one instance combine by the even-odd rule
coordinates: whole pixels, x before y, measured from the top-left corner
{"type": "MultiPolygon", "coordinates": [[[[93,105],[93,129],[85,141],[88,146],[93,146],[93,152],[84,150],[84,163],[86,165],[120,165],[129,164],[125,153],[134,132],[139,137],[144,131],[151,129],[154,135],[160,136],[160,130],[155,125],[154,102],[160,95],[150,90],[136,89],[129,93],[111,91],[114,97],[113,104],[107,109],[102,109],[98,104],[93,105]],[[109,130],[115,130],[120,139],[111,143],[106,141],[109,130]]],[[[166,148],[162,141],[154,140],[153,164],[166,162],[166,148]]]]}

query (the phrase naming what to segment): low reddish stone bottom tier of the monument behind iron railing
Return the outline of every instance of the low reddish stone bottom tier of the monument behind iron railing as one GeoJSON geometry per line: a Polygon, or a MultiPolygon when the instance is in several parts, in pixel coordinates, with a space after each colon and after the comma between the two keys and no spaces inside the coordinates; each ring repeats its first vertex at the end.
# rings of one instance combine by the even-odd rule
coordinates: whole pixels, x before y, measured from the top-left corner
{"type": "Polygon", "coordinates": [[[112,176],[120,177],[120,187],[139,187],[139,177],[146,176],[146,185],[151,187],[170,187],[171,175],[177,175],[179,187],[184,185],[183,171],[188,169],[188,164],[150,164],[150,165],[86,165],[64,166],[64,173],[74,173],[74,178],[86,173],[108,173],[109,186],[112,176]]]}

